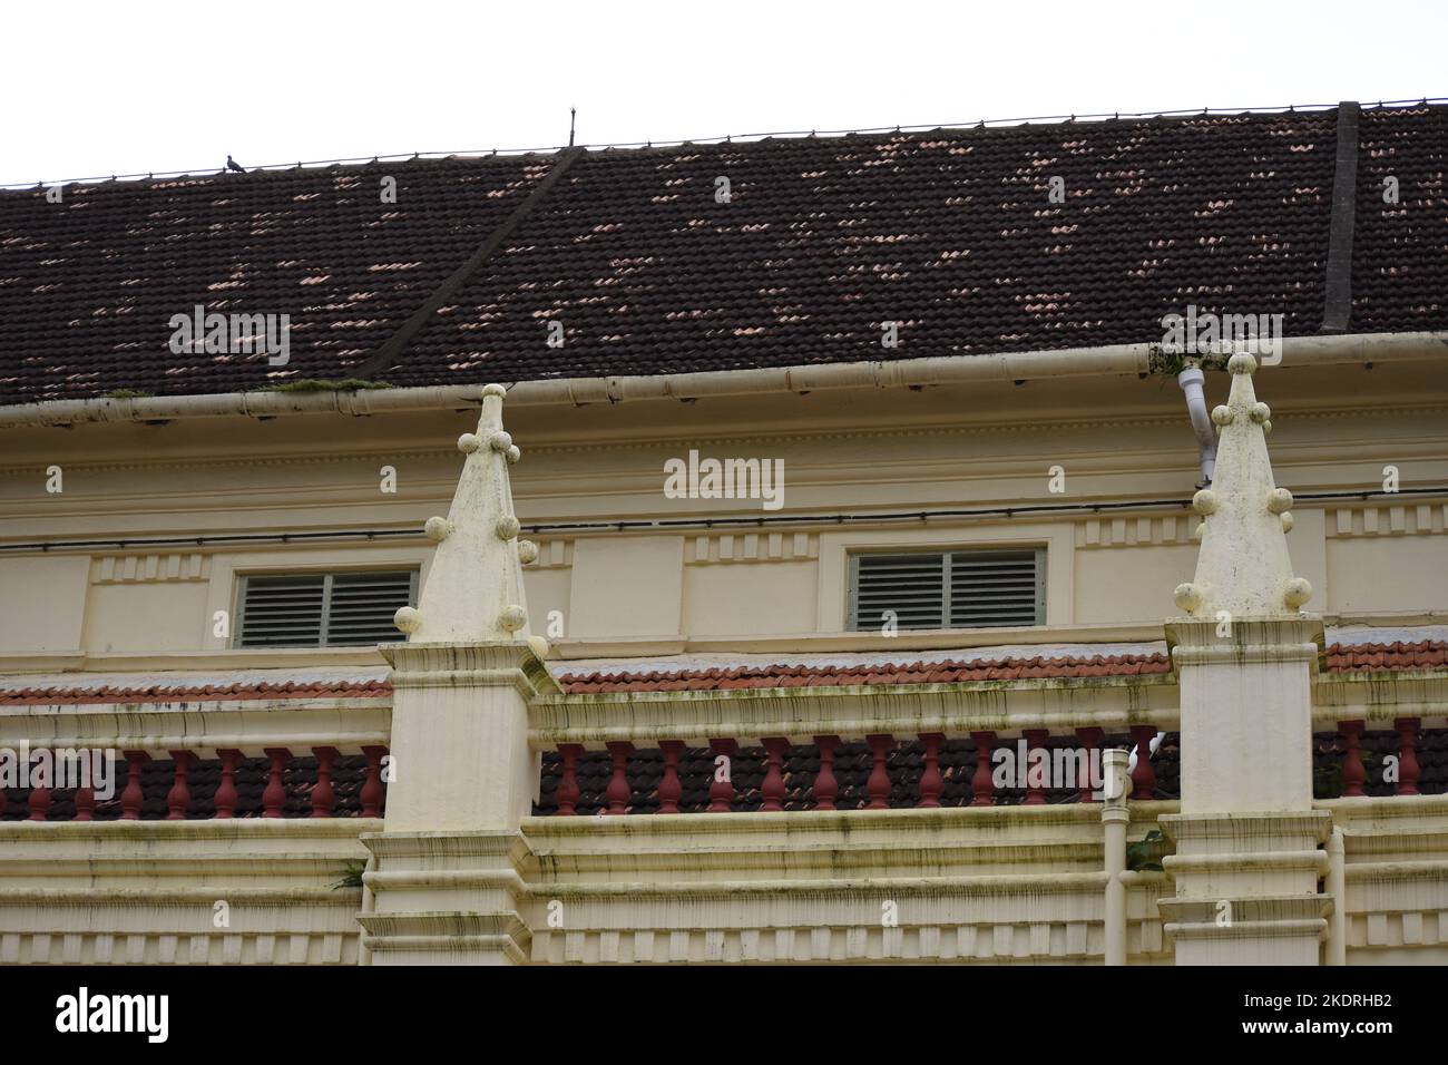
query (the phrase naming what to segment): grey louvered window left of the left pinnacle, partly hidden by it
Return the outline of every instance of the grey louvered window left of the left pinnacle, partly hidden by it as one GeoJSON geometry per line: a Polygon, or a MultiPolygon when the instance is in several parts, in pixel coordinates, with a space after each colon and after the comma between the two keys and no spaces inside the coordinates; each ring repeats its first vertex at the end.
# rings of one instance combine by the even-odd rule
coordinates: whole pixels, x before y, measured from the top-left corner
{"type": "Polygon", "coordinates": [[[239,648],[358,648],[401,639],[392,614],[417,598],[417,571],[243,577],[239,648]]]}

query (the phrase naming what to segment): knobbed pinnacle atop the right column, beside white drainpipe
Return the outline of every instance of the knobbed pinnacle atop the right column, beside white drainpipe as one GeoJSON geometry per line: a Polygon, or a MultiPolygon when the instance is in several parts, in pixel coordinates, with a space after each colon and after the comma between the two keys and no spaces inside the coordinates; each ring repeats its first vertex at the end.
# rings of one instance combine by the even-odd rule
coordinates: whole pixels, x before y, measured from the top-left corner
{"type": "Polygon", "coordinates": [[[1296,616],[1312,585],[1292,575],[1292,493],[1273,481],[1266,440],[1271,412],[1253,390],[1257,359],[1237,354],[1226,368],[1232,391],[1212,412],[1221,429],[1216,478],[1192,500],[1203,523],[1196,577],[1177,587],[1176,604],[1202,620],[1221,611],[1232,619],[1296,616]]]}

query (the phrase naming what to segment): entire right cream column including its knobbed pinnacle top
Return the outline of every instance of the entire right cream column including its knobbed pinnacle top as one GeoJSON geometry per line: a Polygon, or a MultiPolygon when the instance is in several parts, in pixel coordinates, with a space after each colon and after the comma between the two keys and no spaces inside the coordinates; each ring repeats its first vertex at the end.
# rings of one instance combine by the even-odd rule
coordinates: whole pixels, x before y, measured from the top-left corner
{"type": "Polygon", "coordinates": [[[1167,622],[1182,697],[1182,811],[1161,824],[1176,897],[1158,903],[1177,964],[1316,965],[1332,898],[1319,891],[1331,816],[1312,809],[1312,675],[1321,617],[1292,575],[1292,494],[1267,456],[1257,362],[1234,355],[1196,575],[1167,622]]]}

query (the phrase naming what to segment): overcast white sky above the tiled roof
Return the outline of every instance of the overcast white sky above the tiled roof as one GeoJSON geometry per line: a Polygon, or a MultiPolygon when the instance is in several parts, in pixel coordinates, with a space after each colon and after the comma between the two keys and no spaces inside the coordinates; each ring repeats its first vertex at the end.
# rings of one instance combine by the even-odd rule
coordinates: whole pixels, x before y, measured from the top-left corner
{"type": "Polygon", "coordinates": [[[1448,96],[1444,0],[7,3],[0,183],[1448,96]]]}

